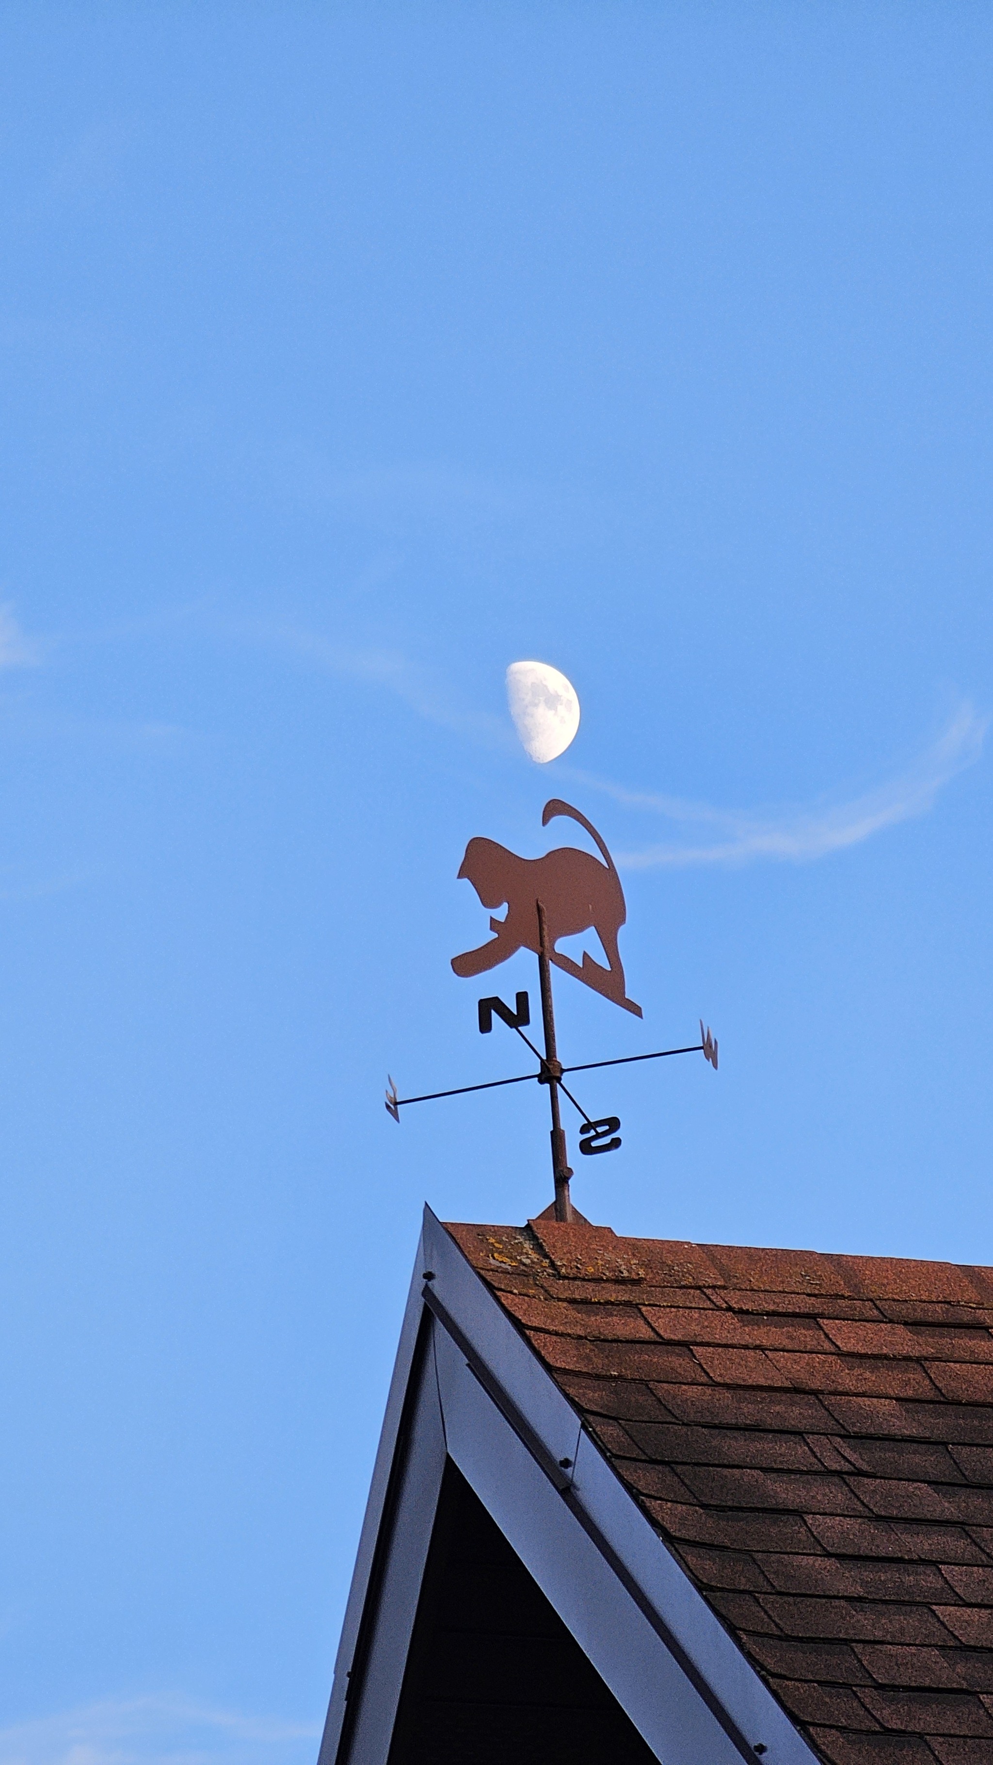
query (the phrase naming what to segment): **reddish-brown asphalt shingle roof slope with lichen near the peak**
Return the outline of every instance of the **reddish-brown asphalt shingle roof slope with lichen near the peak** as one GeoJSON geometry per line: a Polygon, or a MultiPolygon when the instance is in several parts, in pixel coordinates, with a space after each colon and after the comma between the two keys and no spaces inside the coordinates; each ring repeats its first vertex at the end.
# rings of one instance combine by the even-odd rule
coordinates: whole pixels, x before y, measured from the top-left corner
{"type": "Polygon", "coordinates": [[[993,1269],[448,1232],[824,1760],[993,1761],[993,1269]]]}

